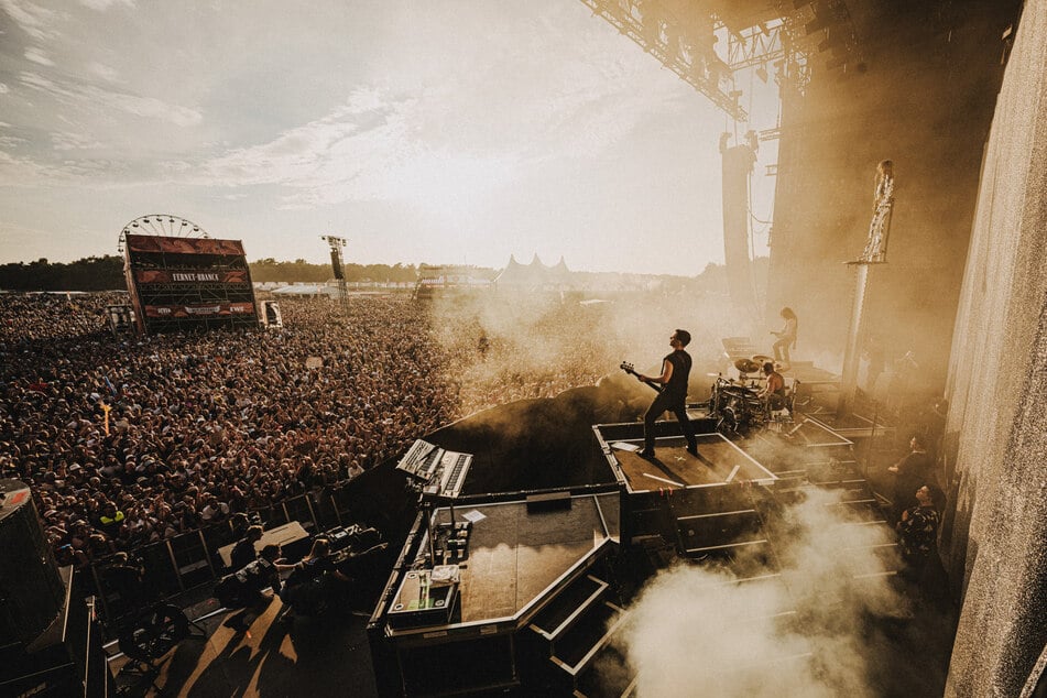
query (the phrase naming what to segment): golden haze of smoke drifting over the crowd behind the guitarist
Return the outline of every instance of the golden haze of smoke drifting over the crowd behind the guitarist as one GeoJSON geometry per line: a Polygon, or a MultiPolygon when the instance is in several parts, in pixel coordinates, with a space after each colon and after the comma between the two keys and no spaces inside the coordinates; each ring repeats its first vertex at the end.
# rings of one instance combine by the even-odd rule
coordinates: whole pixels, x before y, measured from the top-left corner
{"type": "MultiPolygon", "coordinates": [[[[657,373],[676,328],[691,332],[691,385],[702,399],[719,368],[722,337],[742,330],[727,301],[715,294],[626,291],[599,298],[567,292],[505,292],[436,299],[433,332],[458,386],[461,415],[533,397],[553,397],[615,375],[640,402],[650,392],[619,371],[622,361],[657,373]]],[[[759,341],[759,340],[757,340],[759,341]]],[[[770,349],[770,340],[766,342],[770,349]]],[[[644,405],[645,407],[646,405],[644,405]]]]}

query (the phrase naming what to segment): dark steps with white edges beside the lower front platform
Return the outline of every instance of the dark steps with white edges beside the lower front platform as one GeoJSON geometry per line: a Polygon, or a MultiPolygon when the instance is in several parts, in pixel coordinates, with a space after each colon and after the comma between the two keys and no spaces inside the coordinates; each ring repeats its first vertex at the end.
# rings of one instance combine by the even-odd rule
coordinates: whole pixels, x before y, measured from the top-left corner
{"type": "Polygon", "coordinates": [[[632,695],[634,681],[613,645],[628,615],[610,582],[596,574],[564,589],[525,632],[542,691],[579,698],[632,695]]]}

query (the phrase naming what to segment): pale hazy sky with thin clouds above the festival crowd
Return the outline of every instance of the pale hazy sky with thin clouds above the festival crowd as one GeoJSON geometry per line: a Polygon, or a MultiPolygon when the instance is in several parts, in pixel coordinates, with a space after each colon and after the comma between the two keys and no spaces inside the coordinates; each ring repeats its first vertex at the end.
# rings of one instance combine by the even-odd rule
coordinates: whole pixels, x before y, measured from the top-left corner
{"type": "Polygon", "coordinates": [[[249,260],[694,275],[734,128],[580,0],[0,0],[0,263],[171,214],[249,260]]]}

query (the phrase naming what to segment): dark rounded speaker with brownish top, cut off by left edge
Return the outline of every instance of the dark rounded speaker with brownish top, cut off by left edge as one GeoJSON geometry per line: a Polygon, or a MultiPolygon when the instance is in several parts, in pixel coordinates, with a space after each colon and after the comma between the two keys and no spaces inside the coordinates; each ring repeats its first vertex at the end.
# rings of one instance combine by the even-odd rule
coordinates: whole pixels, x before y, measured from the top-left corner
{"type": "Polygon", "coordinates": [[[29,487],[0,480],[0,644],[30,643],[65,606],[65,585],[29,487]]]}

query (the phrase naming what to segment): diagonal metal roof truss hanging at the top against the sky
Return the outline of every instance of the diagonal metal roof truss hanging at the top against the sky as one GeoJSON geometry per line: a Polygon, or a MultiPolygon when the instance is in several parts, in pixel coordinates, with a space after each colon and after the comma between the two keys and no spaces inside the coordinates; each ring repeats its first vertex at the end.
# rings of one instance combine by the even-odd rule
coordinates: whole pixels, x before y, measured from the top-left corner
{"type": "Polygon", "coordinates": [[[717,23],[711,14],[696,12],[684,22],[651,0],[581,1],[735,121],[749,120],[738,103],[738,92],[720,88],[733,73],[712,48],[717,23]]]}

